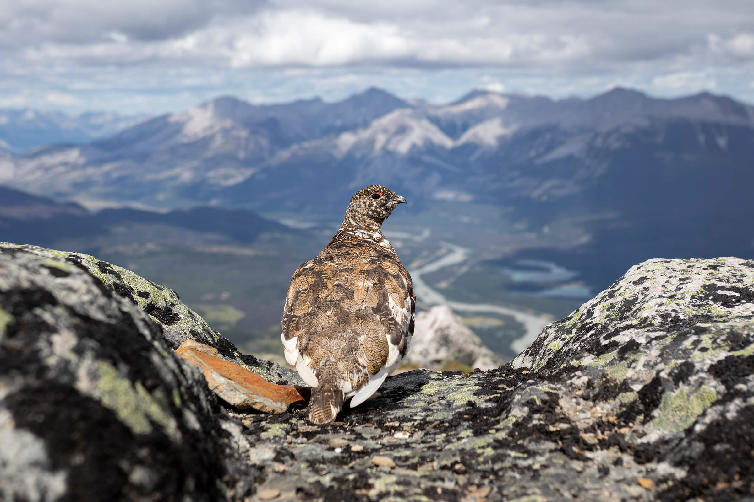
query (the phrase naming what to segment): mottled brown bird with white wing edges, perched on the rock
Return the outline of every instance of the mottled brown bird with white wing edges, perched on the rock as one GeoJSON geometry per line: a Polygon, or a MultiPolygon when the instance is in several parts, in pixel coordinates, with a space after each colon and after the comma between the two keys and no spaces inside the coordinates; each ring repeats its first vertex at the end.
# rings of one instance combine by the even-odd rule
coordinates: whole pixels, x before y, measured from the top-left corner
{"type": "Polygon", "coordinates": [[[414,333],[411,275],[382,234],[403,196],[371,185],[351,197],[329,244],[293,273],[280,339],[311,387],[308,418],[334,421],[367,400],[406,357],[414,333]]]}

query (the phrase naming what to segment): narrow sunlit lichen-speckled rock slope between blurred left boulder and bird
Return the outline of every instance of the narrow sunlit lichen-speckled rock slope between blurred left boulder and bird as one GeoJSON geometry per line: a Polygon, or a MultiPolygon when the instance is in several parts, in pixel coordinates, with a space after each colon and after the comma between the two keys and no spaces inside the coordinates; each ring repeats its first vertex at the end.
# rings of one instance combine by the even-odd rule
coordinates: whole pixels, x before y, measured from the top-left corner
{"type": "Polygon", "coordinates": [[[299,374],[293,370],[280,367],[279,364],[270,361],[257,359],[249,354],[241,354],[235,345],[221,336],[218,331],[213,330],[200,315],[185,306],[175,291],[162,284],[140,277],[121,266],[97,260],[88,254],[0,242],[0,250],[3,248],[17,249],[51,260],[63,261],[89,272],[102,281],[107,288],[138,306],[149,315],[152,321],[159,324],[165,342],[173,350],[187,339],[195,339],[216,348],[220,356],[226,360],[240,364],[271,382],[285,379],[297,385],[304,383],[299,378],[299,374]]]}

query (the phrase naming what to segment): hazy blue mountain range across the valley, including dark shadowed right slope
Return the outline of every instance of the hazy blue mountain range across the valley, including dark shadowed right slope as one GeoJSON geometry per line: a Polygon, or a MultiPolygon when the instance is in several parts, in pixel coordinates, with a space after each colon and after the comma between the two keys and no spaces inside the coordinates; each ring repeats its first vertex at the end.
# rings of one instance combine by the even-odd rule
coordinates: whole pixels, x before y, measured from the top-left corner
{"type": "Polygon", "coordinates": [[[752,158],[754,107],[710,93],[474,91],[438,106],[372,88],[334,103],[222,97],[86,145],[0,153],[0,184],[90,207],[333,215],[385,184],[419,209],[503,208],[541,238],[527,257],[559,253],[597,288],[649,257],[754,254],[752,158]],[[587,237],[547,243],[572,227],[587,237]]]}

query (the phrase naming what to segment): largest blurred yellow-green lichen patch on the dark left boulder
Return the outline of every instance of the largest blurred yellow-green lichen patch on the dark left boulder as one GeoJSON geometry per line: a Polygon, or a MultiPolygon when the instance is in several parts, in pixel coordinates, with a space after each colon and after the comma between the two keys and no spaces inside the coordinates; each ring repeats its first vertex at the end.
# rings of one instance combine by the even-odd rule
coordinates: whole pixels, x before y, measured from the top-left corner
{"type": "Polygon", "coordinates": [[[150,434],[152,423],[176,443],[181,436],[173,416],[167,411],[164,397],[155,391],[149,394],[141,382],[121,378],[112,364],[100,361],[100,381],[97,382],[100,401],[118,415],[134,434],[150,434]]]}

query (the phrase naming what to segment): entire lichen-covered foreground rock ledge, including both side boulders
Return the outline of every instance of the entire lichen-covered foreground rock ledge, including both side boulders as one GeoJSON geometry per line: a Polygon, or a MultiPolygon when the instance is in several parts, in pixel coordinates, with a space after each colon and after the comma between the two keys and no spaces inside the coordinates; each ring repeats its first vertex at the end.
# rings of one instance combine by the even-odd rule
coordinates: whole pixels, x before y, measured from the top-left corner
{"type": "Polygon", "coordinates": [[[300,383],[160,284],[0,245],[0,497],[754,500],[751,260],[641,263],[510,364],[402,373],[321,427],[219,401],[188,338],[300,383]]]}

